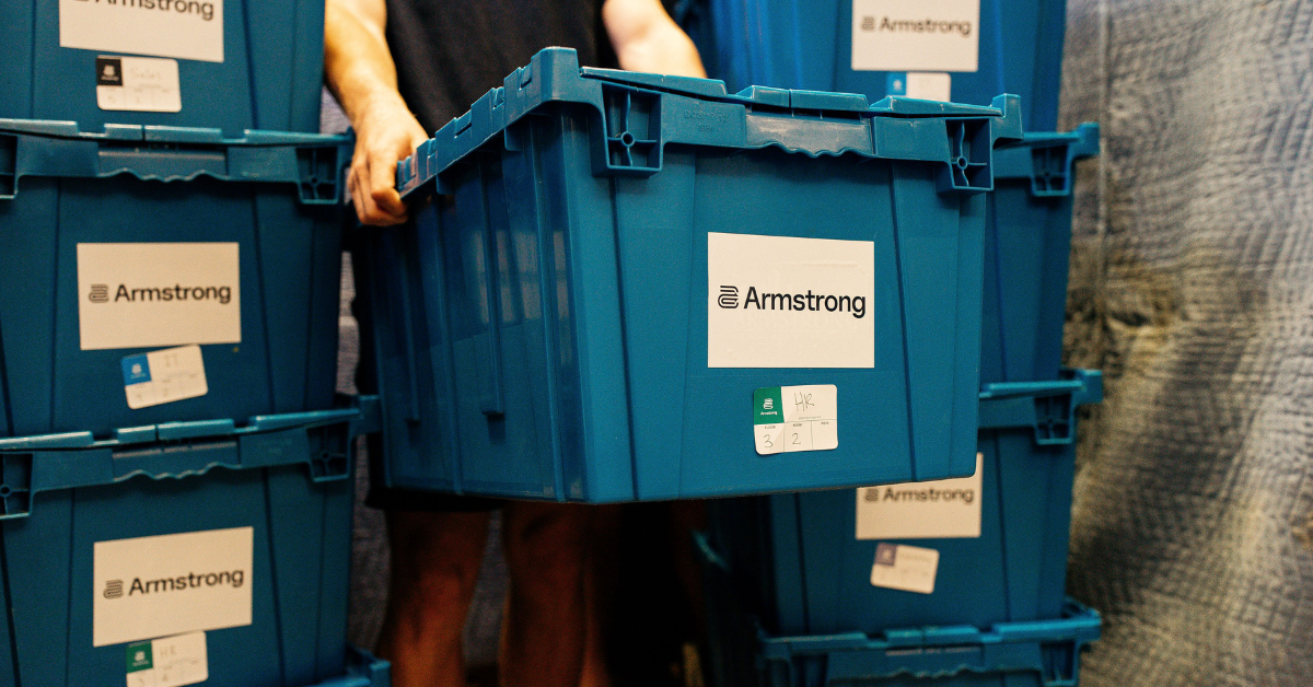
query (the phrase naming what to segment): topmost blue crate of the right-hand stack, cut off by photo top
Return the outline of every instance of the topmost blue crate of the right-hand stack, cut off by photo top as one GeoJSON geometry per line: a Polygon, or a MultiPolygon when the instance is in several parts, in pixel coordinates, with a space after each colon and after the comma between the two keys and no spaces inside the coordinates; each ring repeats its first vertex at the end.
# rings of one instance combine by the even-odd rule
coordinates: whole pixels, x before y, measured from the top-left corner
{"type": "MultiPolygon", "coordinates": [[[[1016,93],[1025,108],[1027,130],[1057,129],[1065,0],[956,0],[940,1],[936,8],[916,0],[696,1],[701,7],[689,17],[697,21],[692,34],[700,38],[706,72],[731,88],[760,84],[882,97],[915,95],[907,92],[909,71],[947,72],[955,102],[989,102],[997,93],[1016,93]],[[855,16],[860,17],[857,34],[888,41],[932,35],[935,32],[916,32],[911,25],[969,21],[973,9],[978,9],[977,20],[968,35],[957,32],[957,41],[978,41],[974,71],[961,71],[966,66],[960,63],[936,66],[955,49],[935,43],[920,50],[928,62],[909,59],[894,71],[852,68],[855,16]]],[[[918,54],[907,47],[895,53],[918,54]]]]}

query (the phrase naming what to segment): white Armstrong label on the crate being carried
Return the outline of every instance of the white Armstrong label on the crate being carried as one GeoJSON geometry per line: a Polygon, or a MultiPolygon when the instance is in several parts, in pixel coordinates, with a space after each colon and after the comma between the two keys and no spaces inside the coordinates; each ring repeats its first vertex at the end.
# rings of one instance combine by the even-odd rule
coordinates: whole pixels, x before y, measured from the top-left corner
{"type": "Polygon", "coordinates": [[[876,244],[706,235],[706,366],[873,368],[876,244]]]}

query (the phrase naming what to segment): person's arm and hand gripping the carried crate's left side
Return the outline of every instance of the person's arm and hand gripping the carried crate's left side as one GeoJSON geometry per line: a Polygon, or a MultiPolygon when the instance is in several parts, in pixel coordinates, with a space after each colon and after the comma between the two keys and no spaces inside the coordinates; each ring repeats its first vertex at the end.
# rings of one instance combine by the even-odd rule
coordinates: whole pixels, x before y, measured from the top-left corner
{"type": "Polygon", "coordinates": [[[383,0],[327,0],[324,81],[356,130],[347,190],[366,225],[406,221],[397,192],[397,162],[428,135],[397,91],[397,66],[387,50],[383,0]]]}

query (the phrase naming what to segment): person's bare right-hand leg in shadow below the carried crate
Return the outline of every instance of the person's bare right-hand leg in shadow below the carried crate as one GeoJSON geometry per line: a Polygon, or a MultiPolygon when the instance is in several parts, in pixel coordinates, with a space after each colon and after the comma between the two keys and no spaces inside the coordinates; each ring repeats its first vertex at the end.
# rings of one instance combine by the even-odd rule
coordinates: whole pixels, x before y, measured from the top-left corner
{"type": "Polygon", "coordinates": [[[592,510],[512,502],[504,511],[511,591],[502,620],[504,687],[578,687],[584,648],[584,557],[592,510]]]}

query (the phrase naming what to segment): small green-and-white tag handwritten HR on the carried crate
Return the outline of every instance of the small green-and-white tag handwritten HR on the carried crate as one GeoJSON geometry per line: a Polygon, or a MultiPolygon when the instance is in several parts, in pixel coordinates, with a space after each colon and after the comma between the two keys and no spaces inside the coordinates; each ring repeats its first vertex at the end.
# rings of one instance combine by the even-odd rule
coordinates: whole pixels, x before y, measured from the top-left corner
{"type": "Polygon", "coordinates": [[[752,430],[762,456],[839,448],[838,388],[767,386],[752,393],[752,430]]]}

